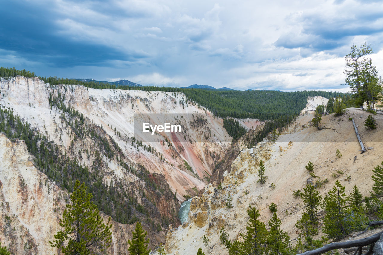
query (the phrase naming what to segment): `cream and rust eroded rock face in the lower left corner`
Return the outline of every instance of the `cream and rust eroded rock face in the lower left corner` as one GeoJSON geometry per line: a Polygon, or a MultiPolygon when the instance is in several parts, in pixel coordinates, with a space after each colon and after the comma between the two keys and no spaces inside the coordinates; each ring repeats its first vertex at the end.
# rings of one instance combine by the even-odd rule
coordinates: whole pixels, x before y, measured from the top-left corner
{"type": "Polygon", "coordinates": [[[31,162],[23,141],[0,133],[0,239],[12,254],[52,254],[68,196],[31,162]]]}

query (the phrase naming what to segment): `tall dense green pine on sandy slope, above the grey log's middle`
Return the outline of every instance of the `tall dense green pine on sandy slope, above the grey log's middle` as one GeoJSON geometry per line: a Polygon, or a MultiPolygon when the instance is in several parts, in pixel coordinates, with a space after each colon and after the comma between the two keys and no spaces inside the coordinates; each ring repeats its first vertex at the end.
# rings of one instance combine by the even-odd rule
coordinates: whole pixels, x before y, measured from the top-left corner
{"type": "Polygon", "coordinates": [[[347,201],[344,192],[345,187],[337,180],[332,190],[324,197],[326,216],[324,216],[323,232],[329,238],[341,238],[347,236],[352,230],[351,212],[345,208],[347,201]]]}

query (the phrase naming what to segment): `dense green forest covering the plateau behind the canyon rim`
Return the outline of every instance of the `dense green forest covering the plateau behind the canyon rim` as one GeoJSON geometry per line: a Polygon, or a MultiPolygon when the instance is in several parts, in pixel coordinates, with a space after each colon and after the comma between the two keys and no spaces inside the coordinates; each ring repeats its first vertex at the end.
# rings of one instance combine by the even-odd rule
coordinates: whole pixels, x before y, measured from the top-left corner
{"type": "MultiPolygon", "coordinates": [[[[26,70],[16,70],[15,68],[0,68],[0,76],[9,78],[16,75],[26,77],[36,77],[34,72],[26,70]]],[[[267,120],[264,129],[249,142],[249,147],[262,141],[267,133],[274,128],[282,128],[300,114],[306,106],[308,96],[322,96],[333,98],[337,96],[345,97],[346,94],[326,91],[296,91],[282,92],[273,90],[247,90],[247,91],[215,91],[205,89],[186,89],[157,86],[116,86],[114,84],[100,83],[96,81],[79,81],[67,78],[41,77],[40,80],[49,84],[79,84],[93,89],[134,89],[142,91],[168,91],[182,92],[188,101],[196,102],[200,106],[206,107],[218,117],[233,117],[238,119],[253,118],[267,120]]],[[[226,130],[228,130],[228,121],[226,130]]],[[[238,125],[229,128],[228,133],[234,140],[243,130],[237,129],[238,125]]],[[[239,127],[239,126],[238,126],[239,127]]]]}

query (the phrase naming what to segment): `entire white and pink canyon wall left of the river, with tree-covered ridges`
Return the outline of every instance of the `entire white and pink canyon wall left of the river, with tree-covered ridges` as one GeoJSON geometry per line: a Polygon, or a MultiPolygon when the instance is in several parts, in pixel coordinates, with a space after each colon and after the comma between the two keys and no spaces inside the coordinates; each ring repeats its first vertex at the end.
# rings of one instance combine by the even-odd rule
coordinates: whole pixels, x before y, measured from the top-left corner
{"type": "MultiPolygon", "coordinates": [[[[37,141],[31,154],[24,141],[9,139],[15,130],[7,130],[9,138],[4,133],[0,136],[0,241],[15,254],[56,252],[49,240],[59,229],[76,169],[88,172],[90,178],[80,177],[86,177],[87,185],[103,194],[101,200],[97,198],[101,211],[117,221],[131,221],[113,221],[113,245],[106,253],[120,254],[127,249],[137,219],[144,223],[154,248],[165,241],[168,224],[179,224],[179,201],[204,187],[211,166],[229,146],[222,120],[186,103],[182,93],[51,86],[22,76],[1,79],[0,93],[5,117],[18,115],[21,123],[30,123],[31,138],[37,141]],[[173,142],[182,140],[181,136],[174,140],[162,137],[162,143],[140,141],[134,137],[133,116],[142,112],[203,114],[203,125],[214,140],[199,142],[206,132],[185,120],[190,132],[182,136],[189,141],[173,142]],[[50,153],[52,162],[43,157],[44,151],[50,153]],[[67,161],[69,169],[49,170],[63,167],[60,161],[67,161]]],[[[4,121],[4,115],[2,118],[4,121]]]]}

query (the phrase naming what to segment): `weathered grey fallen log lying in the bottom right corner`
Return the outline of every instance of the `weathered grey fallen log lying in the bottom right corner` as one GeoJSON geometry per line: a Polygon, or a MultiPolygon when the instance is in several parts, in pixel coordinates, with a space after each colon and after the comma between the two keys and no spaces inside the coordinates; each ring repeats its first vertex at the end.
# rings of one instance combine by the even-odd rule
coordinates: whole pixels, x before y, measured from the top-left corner
{"type": "Polygon", "coordinates": [[[376,233],[372,236],[365,237],[362,239],[358,240],[352,240],[352,241],[347,241],[347,242],[342,242],[342,243],[331,243],[331,244],[326,244],[321,248],[315,249],[315,250],[308,250],[307,252],[303,252],[297,255],[319,255],[325,252],[328,252],[330,250],[334,249],[346,249],[346,248],[351,248],[351,247],[363,247],[372,243],[375,243],[377,240],[379,240],[380,235],[382,232],[376,233]]]}

